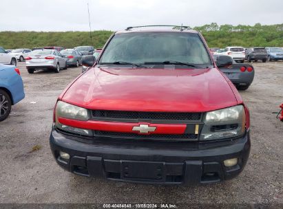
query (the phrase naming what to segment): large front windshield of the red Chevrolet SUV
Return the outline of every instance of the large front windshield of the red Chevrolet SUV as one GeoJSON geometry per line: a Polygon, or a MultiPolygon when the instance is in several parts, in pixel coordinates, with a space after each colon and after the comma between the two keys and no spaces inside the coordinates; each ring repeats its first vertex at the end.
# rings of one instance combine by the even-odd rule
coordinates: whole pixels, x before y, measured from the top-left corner
{"type": "Polygon", "coordinates": [[[198,34],[138,32],[116,34],[101,56],[101,63],[163,63],[165,61],[211,65],[198,34]]]}

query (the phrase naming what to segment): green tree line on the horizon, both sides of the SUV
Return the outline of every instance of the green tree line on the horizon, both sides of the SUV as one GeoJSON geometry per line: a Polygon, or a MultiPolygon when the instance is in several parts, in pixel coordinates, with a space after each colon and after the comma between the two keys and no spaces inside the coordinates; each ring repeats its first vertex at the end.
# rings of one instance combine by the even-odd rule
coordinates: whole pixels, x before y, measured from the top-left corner
{"type": "MultiPolygon", "coordinates": [[[[193,28],[205,37],[209,47],[283,47],[283,24],[218,25],[211,23],[193,28]]],[[[92,32],[0,32],[0,46],[6,49],[61,46],[73,48],[78,45],[103,47],[112,31],[92,32]]]]}

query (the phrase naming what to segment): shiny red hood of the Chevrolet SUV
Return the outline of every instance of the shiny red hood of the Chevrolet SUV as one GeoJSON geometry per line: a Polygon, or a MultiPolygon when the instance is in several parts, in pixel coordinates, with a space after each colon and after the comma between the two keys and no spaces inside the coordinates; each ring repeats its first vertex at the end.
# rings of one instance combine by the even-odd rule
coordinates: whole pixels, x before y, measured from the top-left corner
{"type": "Polygon", "coordinates": [[[216,68],[92,68],[61,99],[87,109],[121,111],[200,112],[238,104],[216,68]]]}

